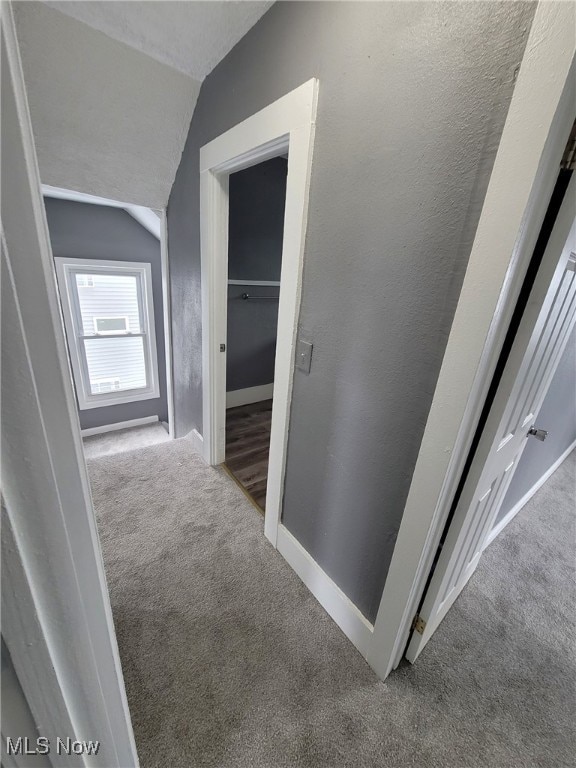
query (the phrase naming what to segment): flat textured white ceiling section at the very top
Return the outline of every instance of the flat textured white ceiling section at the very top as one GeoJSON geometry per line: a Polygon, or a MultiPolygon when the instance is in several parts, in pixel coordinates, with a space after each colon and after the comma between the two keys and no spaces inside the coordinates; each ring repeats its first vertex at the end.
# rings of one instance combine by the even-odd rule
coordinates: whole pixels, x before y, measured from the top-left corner
{"type": "Polygon", "coordinates": [[[46,5],[203,80],[273,2],[49,0],[46,5]]]}

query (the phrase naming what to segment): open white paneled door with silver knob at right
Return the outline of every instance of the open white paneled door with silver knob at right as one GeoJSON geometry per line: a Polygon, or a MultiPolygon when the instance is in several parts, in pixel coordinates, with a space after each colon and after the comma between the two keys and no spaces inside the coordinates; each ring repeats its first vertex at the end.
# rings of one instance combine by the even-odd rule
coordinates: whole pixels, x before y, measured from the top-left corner
{"type": "Polygon", "coordinates": [[[576,179],[536,276],[406,652],[415,661],[474,573],[576,321],[576,179]]]}

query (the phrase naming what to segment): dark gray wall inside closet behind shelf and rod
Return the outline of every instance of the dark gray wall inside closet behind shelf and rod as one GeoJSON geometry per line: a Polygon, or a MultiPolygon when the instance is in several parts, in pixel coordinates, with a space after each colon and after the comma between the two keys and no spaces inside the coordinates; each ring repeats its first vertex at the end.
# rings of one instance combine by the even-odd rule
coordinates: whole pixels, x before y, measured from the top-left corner
{"type": "MultiPolygon", "coordinates": [[[[281,157],[230,176],[228,277],[280,280],[288,161],[281,157]]],[[[274,381],[277,301],[244,301],[243,293],[278,296],[273,286],[228,287],[226,389],[274,381]]]]}

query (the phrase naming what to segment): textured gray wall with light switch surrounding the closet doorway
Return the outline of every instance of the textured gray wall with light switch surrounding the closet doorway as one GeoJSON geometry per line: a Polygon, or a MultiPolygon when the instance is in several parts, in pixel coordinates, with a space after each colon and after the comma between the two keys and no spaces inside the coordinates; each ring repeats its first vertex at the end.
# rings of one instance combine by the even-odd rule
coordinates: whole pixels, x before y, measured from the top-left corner
{"type": "Polygon", "coordinates": [[[199,148],[319,78],[283,521],[370,619],[533,11],[276,3],[204,81],[172,189],[183,435],[202,429],[199,148]]]}

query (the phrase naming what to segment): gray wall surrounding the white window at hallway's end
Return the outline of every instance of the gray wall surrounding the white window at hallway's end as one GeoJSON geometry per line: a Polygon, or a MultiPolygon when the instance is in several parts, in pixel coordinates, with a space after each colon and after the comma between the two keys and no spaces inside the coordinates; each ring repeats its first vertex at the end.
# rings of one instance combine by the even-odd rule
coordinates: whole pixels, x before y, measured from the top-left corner
{"type": "Polygon", "coordinates": [[[78,411],[82,429],[145,416],[158,416],[161,421],[167,421],[160,242],[121,208],[53,198],[45,198],[44,204],[55,257],[142,261],[150,263],[152,267],[160,397],[78,411]]]}

